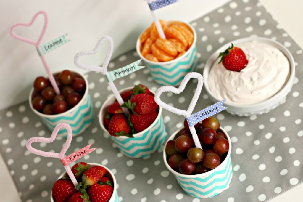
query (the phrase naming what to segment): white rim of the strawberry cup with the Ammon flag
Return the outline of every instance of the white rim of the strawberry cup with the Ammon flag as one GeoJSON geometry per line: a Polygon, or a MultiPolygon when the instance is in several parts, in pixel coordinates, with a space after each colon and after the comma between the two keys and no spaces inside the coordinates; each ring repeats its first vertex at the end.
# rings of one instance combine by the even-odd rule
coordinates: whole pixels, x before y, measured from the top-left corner
{"type": "MultiPolygon", "coordinates": [[[[126,92],[127,90],[132,89],[132,88],[133,87],[124,88],[124,89],[119,90],[118,92],[121,94],[121,93],[126,92]]],[[[149,89],[149,91],[155,95],[154,91],[152,91],[151,89],[149,89]]],[[[101,106],[101,109],[100,109],[100,112],[99,112],[99,115],[98,115],[100,126],[101,126],[102,130],[104,132],[107,132],[107,133],[108,133],[108,130],[106,130],[106,128],[104,127],[104,124],[103,124],[103,116],[105,115],[104,112],[105,112],[106,107],[108,107],[110,104],[112,104],[112,102],[110,102],[112,99],[115,100],[115,95],[114,94],[112,94],[112,96],[108,97],[108,99],[105,100],[105,102],[101,106]]],[[[158,115],[157,115],[155,121],[157,121],[160,118],[161,114],[162,114],[162,107],[159,106],[158,115]]],[[[155,123],[155,121],[153,123],[155,123]]],[[[137,136],[140,136],[141,134],[144,134],[146,131],[150,130],[153,127],[153,125],[154,125],[153,123],[151,123],[151,125],[148,126],[145,130],[142,130],[141,132],[136,133],[133,136],[137,137],[137,136]]],[[[128,139],[128,138],[130,138],[130,137],[127,137],[127,136],[113,136],[113,137],[119,138],[119,139],[128,139]]]]}

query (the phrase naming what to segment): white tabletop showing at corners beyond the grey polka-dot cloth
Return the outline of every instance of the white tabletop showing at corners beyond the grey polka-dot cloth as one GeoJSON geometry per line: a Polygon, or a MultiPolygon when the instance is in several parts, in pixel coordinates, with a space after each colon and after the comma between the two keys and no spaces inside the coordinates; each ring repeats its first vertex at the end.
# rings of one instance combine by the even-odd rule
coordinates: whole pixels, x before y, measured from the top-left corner
{"type": "MultiPolygon", "coordinates": [[[[269,13],[273,16],[282,28],[286,30],[289,36],[297,42],[297,44],[303,47],[303,24],[300,19],[303,19],[303,1],[300,0],[287,0],[287,1],[277,1],[277,0],[259,0],[269,13]],[[296,22],[293,22],[296,19],[296,22]]],[[[1,155],[0,155],[1,156],[1,155]]],[[[11,201],[11,202],[21,202],[19,194],[15,188],[12,178],[8,172],[8,169],[0,157],[0,172],[2,176],[2,182],[0,183],[0,190],[2,193],[1,201],[11,201]]],[[[277,197],[269,200],[270,202],[298,202],[302,201],[303,198],[303,183],[298,186],[287,190],[286,192],[278,195],[277,197]]]]}

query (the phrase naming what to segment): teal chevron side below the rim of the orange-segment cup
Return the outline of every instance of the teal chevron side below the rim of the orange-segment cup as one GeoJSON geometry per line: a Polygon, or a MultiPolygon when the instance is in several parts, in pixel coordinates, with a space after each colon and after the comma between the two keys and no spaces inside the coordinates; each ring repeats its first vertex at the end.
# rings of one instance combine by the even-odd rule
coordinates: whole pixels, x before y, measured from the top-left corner
{"type": "Polygon", "coordinates": [[[162,86],[178,86],[184,76],[189,72],[195,72],[198,66],[196,47],[178,62],[168,65],[146,66],[151,72],[153,79],[162,86]]]}

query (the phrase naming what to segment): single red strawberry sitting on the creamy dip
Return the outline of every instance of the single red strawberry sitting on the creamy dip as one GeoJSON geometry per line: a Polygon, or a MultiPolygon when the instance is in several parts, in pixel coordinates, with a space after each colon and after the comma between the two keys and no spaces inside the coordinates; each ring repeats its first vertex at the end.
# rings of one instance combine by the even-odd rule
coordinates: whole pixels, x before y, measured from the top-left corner
{"type": "Polygon", "coordinates": [[[224,52],[220,52],[218,58],[219,57],[221,57],[219,63],[222,62],[226,69],[235,72],[239,72],[248,63],[243,50],[234,46],[233,44],[231,44],[231,46],[228,47],[228,49],[226,49],[224,52]]]}

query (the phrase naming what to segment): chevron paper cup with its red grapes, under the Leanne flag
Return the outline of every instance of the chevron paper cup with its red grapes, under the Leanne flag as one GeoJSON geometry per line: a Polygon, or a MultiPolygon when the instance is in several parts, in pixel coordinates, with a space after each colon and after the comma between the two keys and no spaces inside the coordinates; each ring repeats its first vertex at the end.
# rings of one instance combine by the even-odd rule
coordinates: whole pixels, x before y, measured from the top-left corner
{"type": "MultiPolygon", "coordinates": [[[[90,126],[94,117],[88,81],[83,74],[70,70],[53,75],[60,94],[55,93],[47,77],[38,76],[29,95],[29,106],[49,130],[65,122],[72,127],[73,135],[78,135],[90,126]]],[[[60,130],[58,135],[66,137],[67,132],[60,130]]]]}

